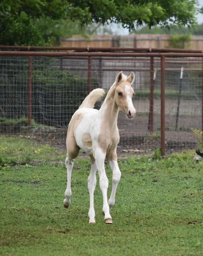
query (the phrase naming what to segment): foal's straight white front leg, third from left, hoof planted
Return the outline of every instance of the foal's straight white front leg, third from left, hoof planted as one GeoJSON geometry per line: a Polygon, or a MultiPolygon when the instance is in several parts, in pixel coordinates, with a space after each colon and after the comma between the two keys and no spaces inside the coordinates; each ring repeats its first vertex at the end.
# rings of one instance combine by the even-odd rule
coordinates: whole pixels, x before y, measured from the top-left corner
{"type": "Polygon", "coordinates": [[[107,200],[107,189],[109,185],[108,178],[106,176],[104,161],[105,161],[106,154],[100,149],[97,148],[95,150],[94,158],[96,161],[96,166],[99,173],[99,186],[103,194],[103,213],[104,213],[104,220],[106,223],[112,223],[112,218],[110,215],[110,209],[107,200]]]}

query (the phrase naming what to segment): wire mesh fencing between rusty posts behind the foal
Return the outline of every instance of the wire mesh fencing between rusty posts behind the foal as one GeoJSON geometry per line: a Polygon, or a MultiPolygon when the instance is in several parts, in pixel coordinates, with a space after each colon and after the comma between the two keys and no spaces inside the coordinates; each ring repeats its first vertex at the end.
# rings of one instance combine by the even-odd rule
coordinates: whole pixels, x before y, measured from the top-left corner
{"type": "MultiPolygon", "coordinates": [[[[28,125],[27,56],[0,56],[0,134],[65,147],[68,123],[90,89],[106,93],[119,71],[135,73],[136,116],[119,112],[118,151],[160,147],[159,57],[32,56],[31,123],[28,125]],[[90,67],[91,65],[91,67],[90,67]],[[91,73],[91,75],[90,75],[91,73]],[[91,80],[91,87],[90,87],[91,80]]],[[[100,108],[103,100],[96,104],[100,108]]],[[[202,58],[165,60],[166,151],[195,148],[202,124],[202,58]]]]}

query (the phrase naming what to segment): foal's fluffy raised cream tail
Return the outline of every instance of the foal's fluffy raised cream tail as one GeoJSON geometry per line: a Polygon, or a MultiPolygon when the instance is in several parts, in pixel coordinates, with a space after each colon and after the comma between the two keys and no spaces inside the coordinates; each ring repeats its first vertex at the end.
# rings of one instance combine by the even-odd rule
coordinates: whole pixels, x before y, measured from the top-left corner
{"type": "Polygon", "coordinates": [[[94,89],[83,100],[79,108],[94,108],[94,104],[97,100],[101,99],[105,95],[105,91],[101,88],[94,89]]]}

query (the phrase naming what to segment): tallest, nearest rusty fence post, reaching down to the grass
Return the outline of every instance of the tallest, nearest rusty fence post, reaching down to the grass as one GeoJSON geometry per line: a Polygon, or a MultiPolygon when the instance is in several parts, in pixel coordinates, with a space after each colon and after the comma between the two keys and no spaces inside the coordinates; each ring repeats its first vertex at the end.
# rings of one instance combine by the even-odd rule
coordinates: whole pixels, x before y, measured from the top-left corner
{"type": "Polygon", "coordinates": [[[165,56],[161,56],[161,156],[165,154],[165,56]]]}

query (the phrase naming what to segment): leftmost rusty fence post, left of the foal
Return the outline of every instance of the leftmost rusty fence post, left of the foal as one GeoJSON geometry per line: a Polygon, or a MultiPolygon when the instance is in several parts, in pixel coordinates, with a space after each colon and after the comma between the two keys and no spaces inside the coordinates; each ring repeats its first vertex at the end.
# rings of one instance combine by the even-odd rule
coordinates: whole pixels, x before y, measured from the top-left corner
{"type": "Polygon", "coordinates": [[[27,121],[31,125],[32,116],[32,56],[28,57],[28,104],[27,104],[27,121]]]}

